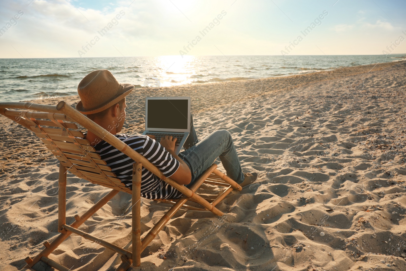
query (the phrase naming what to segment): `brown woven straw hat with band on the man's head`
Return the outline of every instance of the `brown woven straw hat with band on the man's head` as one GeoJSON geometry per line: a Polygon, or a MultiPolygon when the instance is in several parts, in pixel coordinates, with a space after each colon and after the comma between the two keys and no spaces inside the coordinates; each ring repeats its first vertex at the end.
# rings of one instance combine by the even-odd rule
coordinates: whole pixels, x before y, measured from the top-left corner
{"type": "Polygon", "coordinates": [[[76,109],[82,114],[95,114],[117,104],[134,89],[131,84],[120,84],[107,69],[86,75],[78,85],[80,102],[76,109]]]}

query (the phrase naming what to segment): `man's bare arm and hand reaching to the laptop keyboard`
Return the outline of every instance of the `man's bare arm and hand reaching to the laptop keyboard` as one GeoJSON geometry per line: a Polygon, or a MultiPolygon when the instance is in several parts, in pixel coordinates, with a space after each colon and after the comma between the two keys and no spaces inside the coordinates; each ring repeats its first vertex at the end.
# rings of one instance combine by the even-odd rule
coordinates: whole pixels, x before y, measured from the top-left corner
{"type": "Polygon", "coordinates": [[[165,136],[161,138],[160,144],[173,156],[176,160],[179,161],[179,167],[172,174],[171,178],[177,181],[179,184],[190,184],[192,180],[192,172],[188,164],[185,163],[179,156],[177,156],[174,152],[175,150],[175,143],[176,137],[172,138],[172,136],[165,136]]]}

